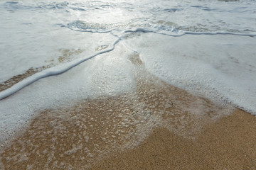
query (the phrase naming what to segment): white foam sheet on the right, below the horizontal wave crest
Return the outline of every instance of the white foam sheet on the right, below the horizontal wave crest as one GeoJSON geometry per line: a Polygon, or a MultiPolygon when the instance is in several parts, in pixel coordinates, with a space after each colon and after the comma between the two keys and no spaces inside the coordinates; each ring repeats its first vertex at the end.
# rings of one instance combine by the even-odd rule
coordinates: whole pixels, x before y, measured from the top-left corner
{"type": "Polygon", "coordinates": [[[127,40],[146,68],[194,94],[233,102],[256,114],[256,39],[238,35],[148,33],[127,40]]]}

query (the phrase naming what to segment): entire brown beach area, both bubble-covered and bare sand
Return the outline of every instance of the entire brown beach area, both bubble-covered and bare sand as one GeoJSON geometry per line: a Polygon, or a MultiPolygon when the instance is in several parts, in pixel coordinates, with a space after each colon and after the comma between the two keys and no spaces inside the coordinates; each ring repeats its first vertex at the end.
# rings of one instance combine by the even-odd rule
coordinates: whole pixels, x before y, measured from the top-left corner
{"type": "Polygon", "coordinates": [[[130,60],[132,94],[43,111],[2,149],[0,169],[256,169],[255,117],[130,60]]]}

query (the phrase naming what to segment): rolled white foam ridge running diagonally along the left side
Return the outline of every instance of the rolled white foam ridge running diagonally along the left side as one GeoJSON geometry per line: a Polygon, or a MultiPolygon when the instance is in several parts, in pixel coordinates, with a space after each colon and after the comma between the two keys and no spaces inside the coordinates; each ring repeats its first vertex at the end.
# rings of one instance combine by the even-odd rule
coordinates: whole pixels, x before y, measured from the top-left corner
{"type": "MultiPolygon", "coordinates": [[[[112,35],[114,35],[114,34],[112,34],[112,35]]],[[[117,35],[114,35],[114,36],[117,37],[117,35]]],[[[73,62],[69,62],[68,65],[65,65],[64,67],[63,67],[63,65],[51,67],[49,69],[43,70],[42,72],[33,74],[31,77],[23,79],[23,81],[20,81],[17,84],[14,84],[14,86],[11,86],[9,89],[1,91],[0,92],[0,100],[6,98],[8,96],[11,96],[12,94],[15,94],[17,91],[23,89],[24,87],[28,86],[29,84],[32,84],[35,81],[38,81],[39,79],[62,74],[64,72],[67,72],[69,69],[72,69],[73,67],[77,66],[78,64],[85,62],[86,60],[90,60],[91,58],[96,57],[97,55],[101,55],[103,53],[110,52],[110,51],[114,50],[114,46],[117,45],[119,40],[120,40],[120,38],[117,38],[117,40],[113,43],[113,45],[110,49],[104,50],[102,52],[97,52],[95,55],[84,58],[82,60],[75,60],[73,62]]]]}

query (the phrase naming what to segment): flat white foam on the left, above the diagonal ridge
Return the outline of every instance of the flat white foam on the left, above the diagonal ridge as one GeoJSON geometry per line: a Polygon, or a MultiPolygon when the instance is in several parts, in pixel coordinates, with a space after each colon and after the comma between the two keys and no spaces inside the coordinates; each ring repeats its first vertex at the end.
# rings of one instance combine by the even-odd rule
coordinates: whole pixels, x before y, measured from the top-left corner
{"type": "MultiPolygon", "coordinates": [[[[6,28],[6,30],[8,29],[6,28]]],[[[7,34],[14,31],[16,30],[11,30],[7,34]]],[[[3,44],[0,47],[1,52],[3,52],[1,53],[1,62],[4,64],[0,68],[0,82],[6,81],[17,74],[23,74],[31,67],[41,68],[48,67],[51,64],[62,64],[59,63],[58,57],[63,57],[64,62],[78,59],[79,55],[76,53],[83,53],[83,55],[90,57],[90,55],[96,53],[97,46],[110,46],[115,39],[110,34],[77,33],[65,28],[51,30],[47,35],[44,35],[45,33],[35,33],[37,31],[39,30],[33,30],[32,32],[28,30],[28,36],[25,36],[25,38],[23,35],[25,33],[15,34],[12,38],[5,38],[6,36],[1,38],[0,43],[3,44]],[[88,43],[92,39],[95,41],[88,43]],[[63,54],[63,51],[67,50],[70,51],[70,54],[68,52],[63,54]]],[[[0,30],[0,32],[3,33],[4,30],[0,30]]]]}

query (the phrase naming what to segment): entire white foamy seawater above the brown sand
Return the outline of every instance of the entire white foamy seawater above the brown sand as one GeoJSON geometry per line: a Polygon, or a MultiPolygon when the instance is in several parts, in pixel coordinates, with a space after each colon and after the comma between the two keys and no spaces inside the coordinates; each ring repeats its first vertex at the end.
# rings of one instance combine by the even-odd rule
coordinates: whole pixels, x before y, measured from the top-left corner
{"type": "Polygon", "coordinates": [[[0,22],[0,83],[17,81],[0,92],[0,140],[45,108],[132,91],[131,52],[169,84],[256,114],[255,1],[0,1],[0,22]]]}

